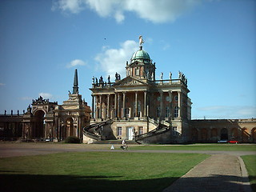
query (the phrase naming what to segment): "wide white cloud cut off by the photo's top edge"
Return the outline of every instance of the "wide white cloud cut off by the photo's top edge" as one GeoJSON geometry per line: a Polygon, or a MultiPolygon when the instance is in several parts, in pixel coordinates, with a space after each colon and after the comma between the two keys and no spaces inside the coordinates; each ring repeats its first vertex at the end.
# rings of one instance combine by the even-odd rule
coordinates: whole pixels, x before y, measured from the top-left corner
{"type": "Polygon", "coordinates": [[[125,12],[133,12],[147,21],[174,22],[180,15],[206,0],[59,0],[52,10],[78,14],[85,6],[101,17],[113,17],[117,22],[125,19],[125,12]]]}

